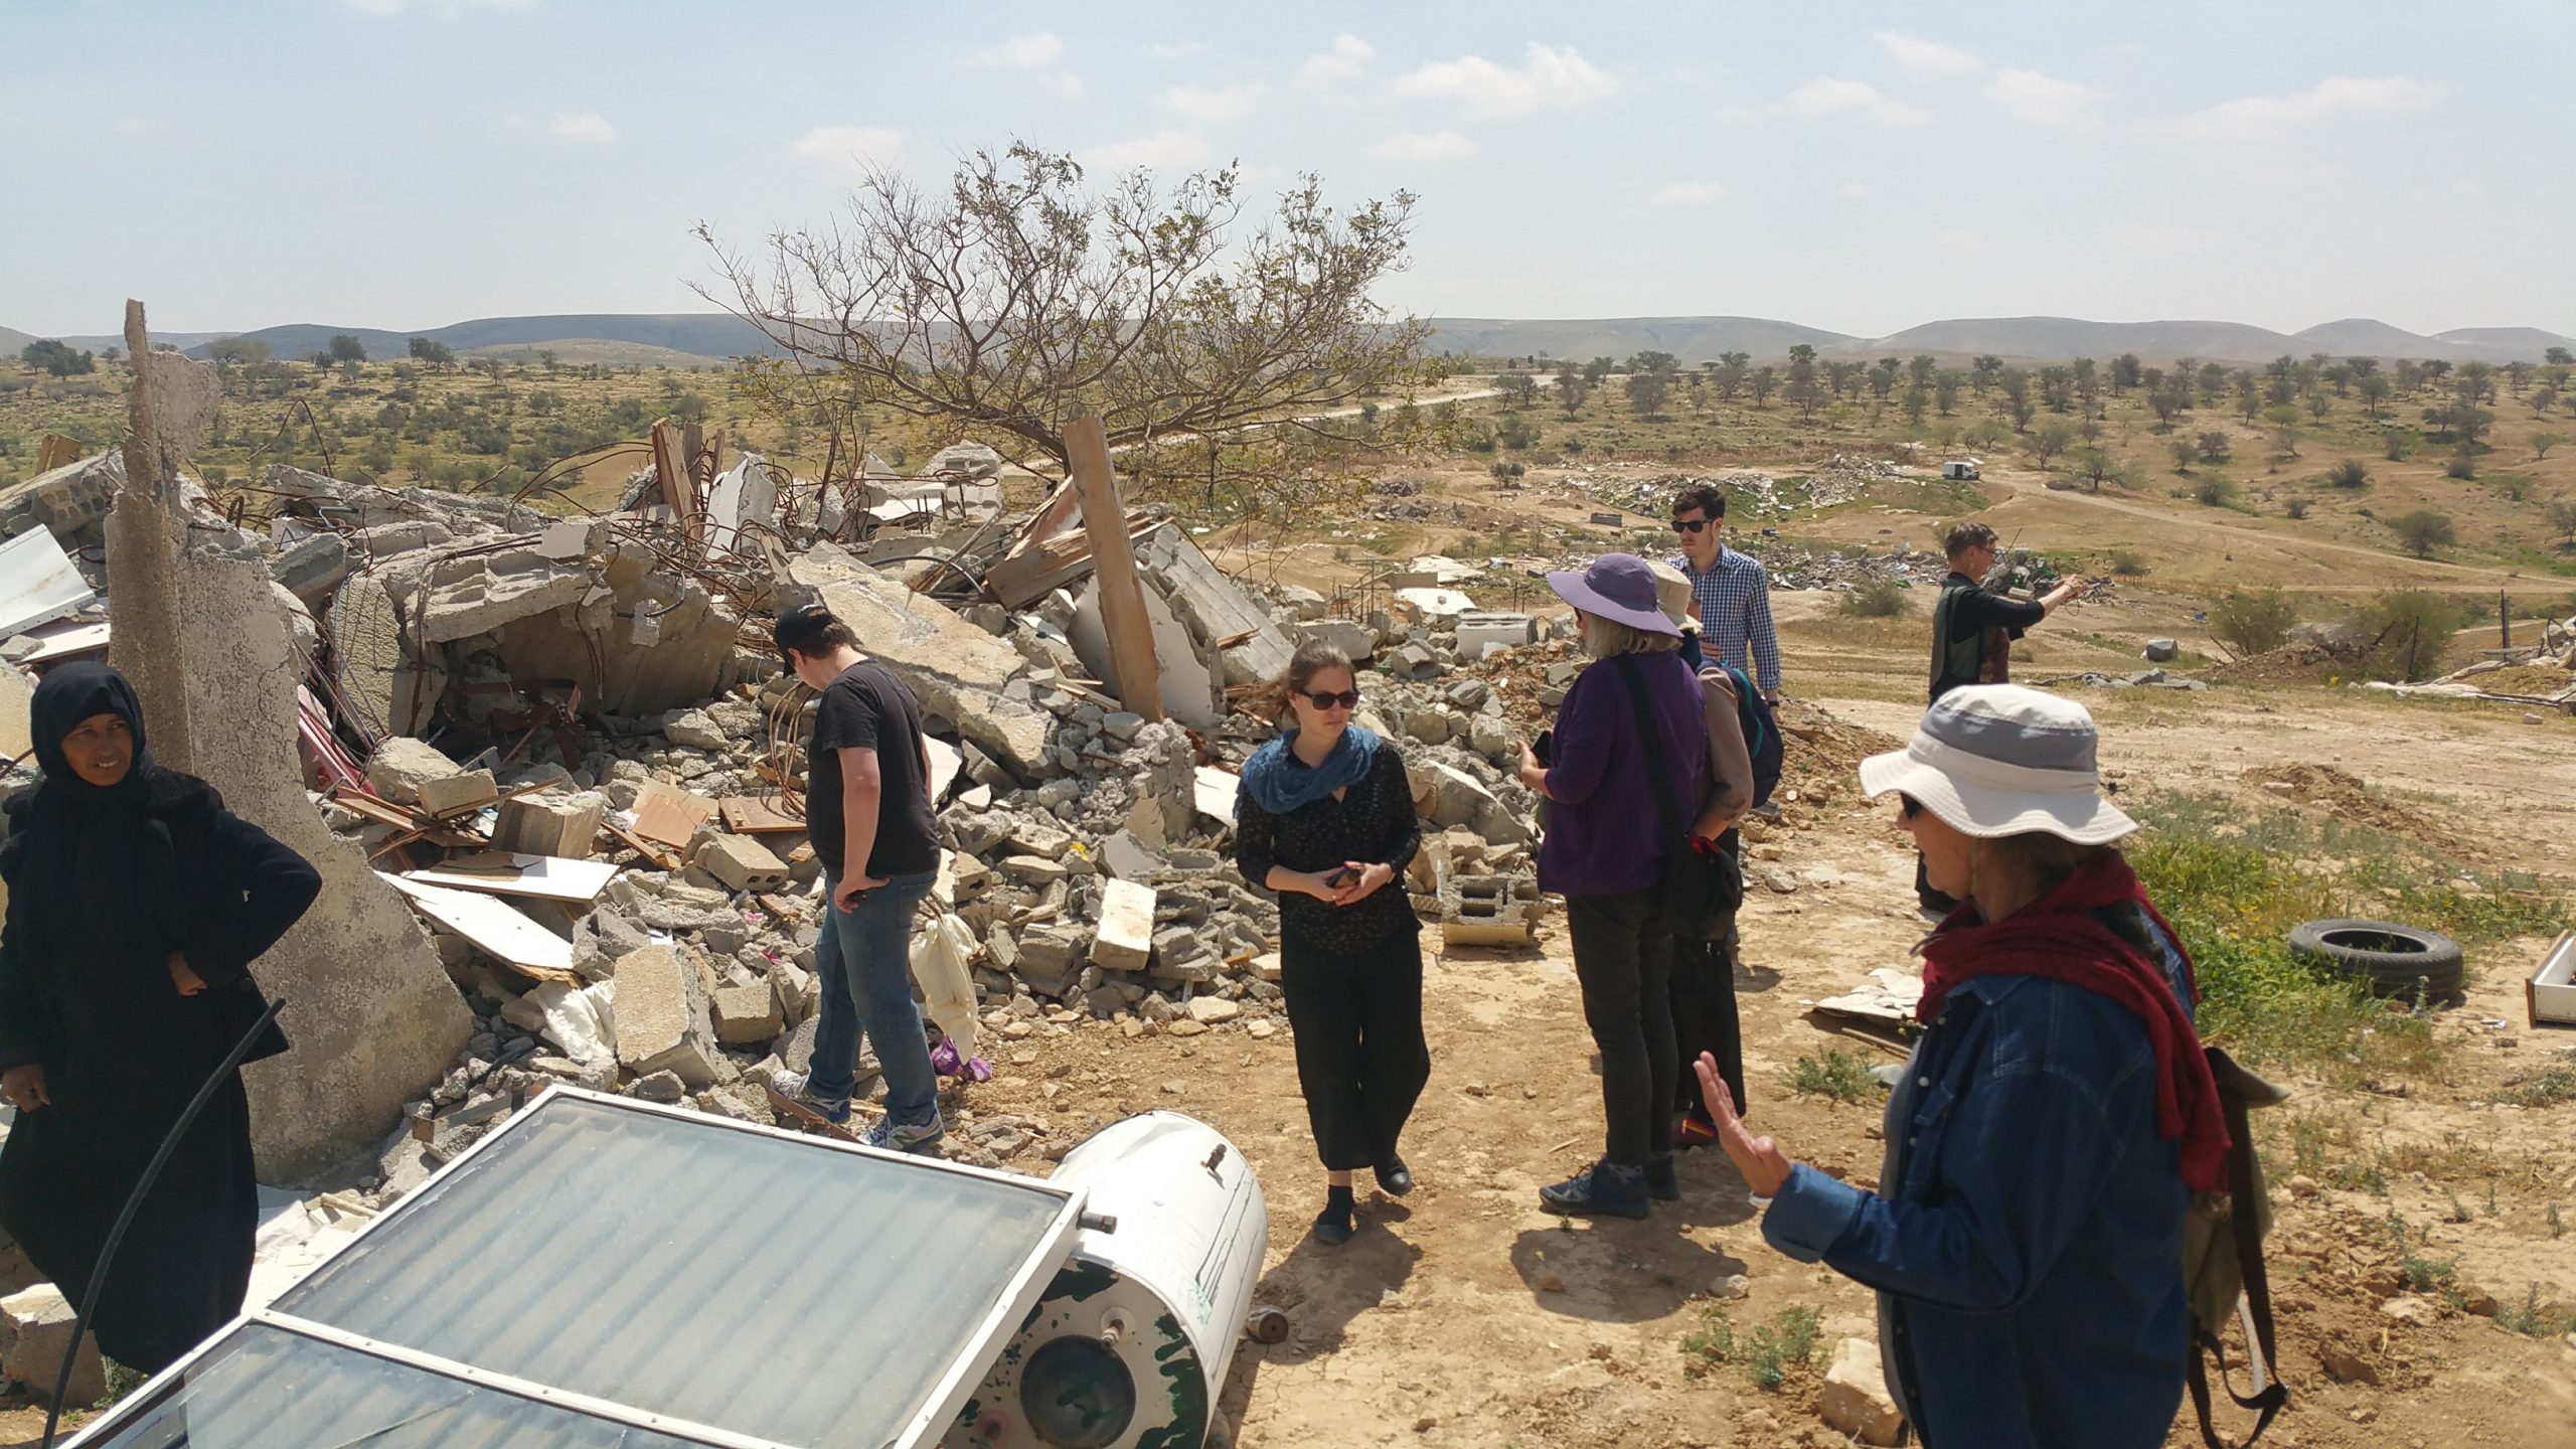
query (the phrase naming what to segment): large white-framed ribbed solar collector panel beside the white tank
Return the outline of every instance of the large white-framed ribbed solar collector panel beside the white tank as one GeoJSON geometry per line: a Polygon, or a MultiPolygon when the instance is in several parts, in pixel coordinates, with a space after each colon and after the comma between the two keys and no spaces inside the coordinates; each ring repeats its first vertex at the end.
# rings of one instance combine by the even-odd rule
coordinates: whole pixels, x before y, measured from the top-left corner
{"type": "Polygon", "coordinates": [[[981,1374],[1018,1328],[1012,1287],[1033,1271],[1028,1297],[1043,1289],[1069,1240],[1043,1183],[549,1093],[276,1312],[778,1444],[878,1449],[961,1359],[981,1374]]]}

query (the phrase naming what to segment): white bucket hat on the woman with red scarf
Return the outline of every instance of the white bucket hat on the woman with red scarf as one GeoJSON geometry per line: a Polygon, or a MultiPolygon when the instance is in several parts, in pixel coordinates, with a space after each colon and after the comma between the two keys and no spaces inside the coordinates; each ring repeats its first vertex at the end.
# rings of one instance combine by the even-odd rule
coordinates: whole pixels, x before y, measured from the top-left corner
{"type": "Polygon", "coordinates": [[[2017,683],[1953,688],[1924,712],[1914,740],[1860,761],[1873,799],[1901,792],[1960,835],[2058,835],[2107,846],[2138,828],[2102,799],[2092,714],[2017,683]]]}

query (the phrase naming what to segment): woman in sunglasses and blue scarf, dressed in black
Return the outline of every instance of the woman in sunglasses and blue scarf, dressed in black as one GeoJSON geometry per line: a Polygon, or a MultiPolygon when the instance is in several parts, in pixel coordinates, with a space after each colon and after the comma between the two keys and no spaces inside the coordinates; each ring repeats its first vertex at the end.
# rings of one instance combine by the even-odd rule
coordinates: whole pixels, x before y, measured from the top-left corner
{"type": "Polygon", "coordinates": [[[1347,1243],[1358,1168],[1373,1168],[1388,1196],[1414,1191],[1396,1137],[1432,1055],[1422,923],[1396,877],[1422,828],[1396,748],[1350,722],[1360,706],[1350,655],[1309,639],[1267,694],[1296,724],[1244,761],[1234,864],[1280,897],[1280,987],[1327,1181],[1314,1235],[1347,1243]]]}

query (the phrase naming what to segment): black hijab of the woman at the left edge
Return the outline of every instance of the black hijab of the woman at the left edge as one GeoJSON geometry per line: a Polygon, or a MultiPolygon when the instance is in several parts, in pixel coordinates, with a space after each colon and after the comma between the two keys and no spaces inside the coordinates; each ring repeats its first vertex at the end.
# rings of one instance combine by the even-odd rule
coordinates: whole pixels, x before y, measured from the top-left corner
{"type": "Polygon", "coordinates": [[[15,815],[0,864],[10,915],[39,951],[82,951],[157,962],[178,936],[178,851],[155,807],[173,804],[188,776],[152,763],[144,706],[126,676],[93,660],[44,676],[28,704],[28,737],[44,784],[15,815]],[[134,732],[134,758],[108,786],[72,771],[62,740],[93,714],[116,714],[134,732]]]}

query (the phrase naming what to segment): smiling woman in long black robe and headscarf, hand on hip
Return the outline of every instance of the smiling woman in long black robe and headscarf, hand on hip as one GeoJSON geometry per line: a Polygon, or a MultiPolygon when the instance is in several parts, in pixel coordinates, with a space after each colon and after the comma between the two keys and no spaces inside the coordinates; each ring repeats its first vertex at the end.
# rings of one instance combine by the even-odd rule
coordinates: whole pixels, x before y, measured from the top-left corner
{"type": "MultiPolygon", "coordinates": [[[[0,843],[0,1227],[75,1305],[144,1165],[265,1011],[250,962],[322,890],[301,856],[144,750],[134,686],[98,663],[36,688],[44,784],[0,843]]],[[[286,1049],[270,1024],[250,1057],[286,1049]]],[[[98,1294],[98,1346],[157,1372],[250,1287],[250,1101],[227,1073],[144,1194],[98,1294]]]]}

